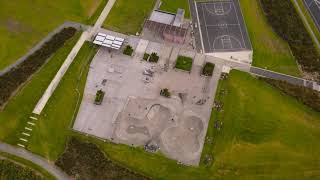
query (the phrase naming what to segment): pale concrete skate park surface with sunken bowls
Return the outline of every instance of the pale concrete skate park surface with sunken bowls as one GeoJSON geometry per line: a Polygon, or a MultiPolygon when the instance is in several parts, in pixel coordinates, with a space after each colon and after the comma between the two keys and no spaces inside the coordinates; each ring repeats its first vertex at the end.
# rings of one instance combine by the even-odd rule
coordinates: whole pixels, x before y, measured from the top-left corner
{"type": "MultiPolygon", "coordinates": [[[[166,47],[156,49],[161,48],[166,47]]],[[[211,114],[212,84],[217,82],[200,76],[200,66],[194,65],[191,73],[164,71],[159,63],[141,59],[99,50],[73,128],[132,146],[152,141],[167,157],[197,165],[211,114]],[[146,69],[154,71],[153,77],[143,74],[146,69]],[[162,88],[170,90],[171,98],[160,96],[162,88]],[[104,101],[94,105],[99,89],[105,91],[104,101]]]]}

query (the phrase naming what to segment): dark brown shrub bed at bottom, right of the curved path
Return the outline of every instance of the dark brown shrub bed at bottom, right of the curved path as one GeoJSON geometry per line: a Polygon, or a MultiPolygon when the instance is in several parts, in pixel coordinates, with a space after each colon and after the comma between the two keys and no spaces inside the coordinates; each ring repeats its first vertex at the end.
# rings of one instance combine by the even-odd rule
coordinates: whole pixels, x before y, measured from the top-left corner
{"type": "Polygon", "coordinates": [[[92,143],[72,138],[55,163],[71,179],[149,179],[124,168],[107,157],[92,143]]]}

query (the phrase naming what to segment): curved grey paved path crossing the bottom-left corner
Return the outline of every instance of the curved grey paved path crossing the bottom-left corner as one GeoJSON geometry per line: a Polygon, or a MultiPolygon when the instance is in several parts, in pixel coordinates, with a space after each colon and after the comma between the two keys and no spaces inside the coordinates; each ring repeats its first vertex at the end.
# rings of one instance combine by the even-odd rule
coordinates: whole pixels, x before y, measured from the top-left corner
{"type": "Polygon", "coordinates": [[[66,175],[63,171],[61,171],[58,167],[56,167],[53,163],[50,163],[48,160],[30,153],[21,148],[17,148],[5,143],[0,142],[0,151],[18,156],[20,158],[29,160],[34,164],[42,167],[47,170],[50,174],[56,177],[59,180],[69,179],[68,175],[66,175]]]}

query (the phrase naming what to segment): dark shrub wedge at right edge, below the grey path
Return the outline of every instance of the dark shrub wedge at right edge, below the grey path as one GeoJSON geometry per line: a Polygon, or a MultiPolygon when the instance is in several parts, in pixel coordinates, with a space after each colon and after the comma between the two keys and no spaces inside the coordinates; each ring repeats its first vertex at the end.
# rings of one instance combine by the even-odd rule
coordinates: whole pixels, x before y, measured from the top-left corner
{"type": "Polygon", "coordinates": [[[273,87],[280,89],[287,95],[296,98],[298,101],[302,102],[306,106],[309,106],[316,111],[320,111],[320,92],[314,91],[310,88],[306,88],[303,86],[292,85],[285,81],[279,81],[269,78],[260,79],[269,83],[273,87]]]}

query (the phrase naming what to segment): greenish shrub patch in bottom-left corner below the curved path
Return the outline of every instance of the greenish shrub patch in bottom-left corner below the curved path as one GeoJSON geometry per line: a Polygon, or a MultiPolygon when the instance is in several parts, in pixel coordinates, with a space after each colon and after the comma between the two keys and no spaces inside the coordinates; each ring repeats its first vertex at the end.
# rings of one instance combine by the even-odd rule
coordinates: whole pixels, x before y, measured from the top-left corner
{"type": "Polygon", "coordinates": [[[30,168],[22,167],[8,160],[0,160],[0,179],[44,179],[30,168]]]}

